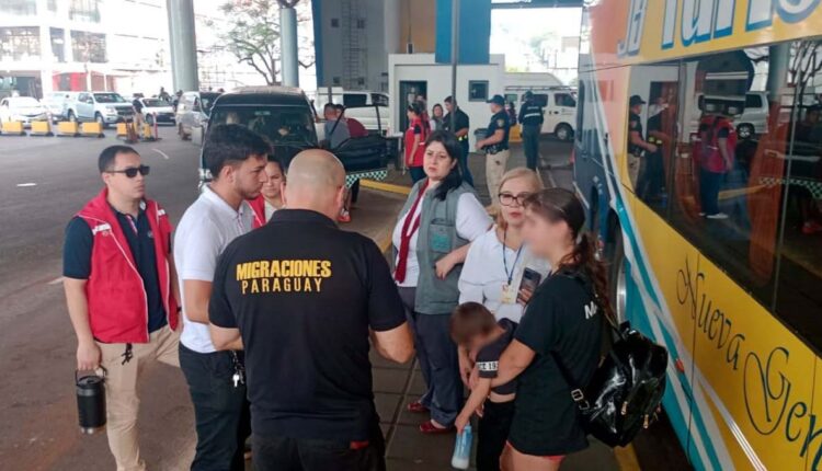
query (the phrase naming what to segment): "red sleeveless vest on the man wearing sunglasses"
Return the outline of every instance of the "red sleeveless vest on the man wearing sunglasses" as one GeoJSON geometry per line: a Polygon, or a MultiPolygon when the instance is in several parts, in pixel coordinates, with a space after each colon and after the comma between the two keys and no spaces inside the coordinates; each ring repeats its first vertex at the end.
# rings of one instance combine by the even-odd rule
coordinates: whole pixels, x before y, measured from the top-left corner
{"type": "MultiPolygon", "coordinates": [[[[89,324],[94,338],[105,343],[148,343],[148,300],[128,240],[109,205],[107,188],[77,214],[91,228],[91,275],[85,284],[89,324]]],[[[171,288],[169,240],[171,223],[165,211],[146,199],[146,216],[155,234],[160,295],[169,326],[176,330],[178,305],[171,288]]]]}

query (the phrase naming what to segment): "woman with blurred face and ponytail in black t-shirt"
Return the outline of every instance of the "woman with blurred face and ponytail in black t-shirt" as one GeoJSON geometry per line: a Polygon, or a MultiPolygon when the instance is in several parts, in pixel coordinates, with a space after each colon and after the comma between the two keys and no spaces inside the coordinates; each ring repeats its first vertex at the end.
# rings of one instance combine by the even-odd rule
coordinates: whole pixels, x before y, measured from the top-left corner
{"type": "Polygon", "coordinates": [[[551,273],[530,297],[491,387],[516,379],[503,469],[556,471],[567,455],[589,445],[570,383],[591,381],[603,315],[613,319],[613,311],[605,266],[594,237],[582,231],[585,211],[576,196],[543,189],[525,198],[524,207],[523,241],[548,260],[551,273]]]}

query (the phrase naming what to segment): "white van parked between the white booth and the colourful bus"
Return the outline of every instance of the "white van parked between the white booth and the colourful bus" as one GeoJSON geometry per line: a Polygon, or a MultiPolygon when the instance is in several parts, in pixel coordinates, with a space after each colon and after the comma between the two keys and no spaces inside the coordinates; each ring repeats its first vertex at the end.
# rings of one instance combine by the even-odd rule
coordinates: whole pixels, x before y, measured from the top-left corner
{"type": "Polygon", "coordinates": [[[541,134],[552,134],[559,140],[573,139],[576,123],[576,90],[570,87],[505,87],[505,101],[514,104],[516,113],[525,101],[523,95],[530,91],[534,100],[543,105],[545,119],[541,134]]]}

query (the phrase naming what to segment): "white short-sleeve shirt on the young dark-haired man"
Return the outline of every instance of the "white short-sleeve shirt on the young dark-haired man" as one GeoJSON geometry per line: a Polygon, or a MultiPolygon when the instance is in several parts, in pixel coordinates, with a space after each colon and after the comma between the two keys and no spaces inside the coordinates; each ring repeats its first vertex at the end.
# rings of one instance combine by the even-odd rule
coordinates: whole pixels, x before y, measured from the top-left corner
{"type": "MultiPolygon", "coordinates": [[[[212,282],[222,250],[249,232],[253,219],[253,209],[247,202],[243,200],[239,210],[235,210],[212,188],[203,188],[199,197],[185,210],[174,234],[174,264],[182,299],[185,299],[183,280],[212,282]]],[[[208,325],[189,320],[185,308],[180,342],[197,353],[215,352],[208,325]]]]}

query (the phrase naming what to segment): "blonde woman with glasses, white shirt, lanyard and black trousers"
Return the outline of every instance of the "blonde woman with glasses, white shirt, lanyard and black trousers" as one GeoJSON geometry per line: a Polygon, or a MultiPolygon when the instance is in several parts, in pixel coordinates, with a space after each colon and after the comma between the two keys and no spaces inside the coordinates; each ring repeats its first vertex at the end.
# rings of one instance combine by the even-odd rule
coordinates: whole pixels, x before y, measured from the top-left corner
{"type": "MultiPolygon", "coordinates": [[[[543,182],[539,176],[524,166],[510,170],[502,176],[496,225],[471,243],[459,277],[459,302],[484,305],[506,330],[516,329],[534,288],[550,271],[548,261],[535,256],[523,242],[522,234],[525,222],[523,203],[540,189],[543,182]]],[[[478,377],[488,377],[489,365],[471,377],[475,369],[471,352],[459,347],[458,354],[459,376],[473,390],[478,377]]],[[[514,412],[513,394],[503,397],[495,391],[490,391],[490,394],[478,428],[479,471],[500,469],[500,455],[514,412]]]]}

